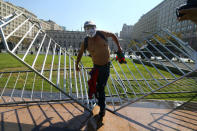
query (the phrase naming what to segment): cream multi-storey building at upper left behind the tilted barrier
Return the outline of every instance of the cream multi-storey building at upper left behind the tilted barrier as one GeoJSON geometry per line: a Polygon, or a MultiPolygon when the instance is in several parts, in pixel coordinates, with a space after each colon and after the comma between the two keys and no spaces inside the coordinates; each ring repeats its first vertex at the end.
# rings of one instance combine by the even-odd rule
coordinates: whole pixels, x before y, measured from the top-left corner
{"type": "MultiPolygon", "coordinates": [[[[3,0],[0,0],[0,16],[5,17],[10,15],[13,12],[23,12],[27,17],[30,17],[32,21],[37,21],[41,24],[43,30],[63,30],[63,28],[59,25],[57,25],[55,22],[49,20],[45,21],[42,19],[38,19],[36,15],[29,12],[23,7],[15,6],[9,2],[4,2],[3,0]]],[[[12,32],[15,28],[17,28],[23,21],[25,20],[25,17],[19,17],[15,19],[13,22],[10,23],[10,25],[7,26],[7,28],[4,30],[5,35],[12,32]]],[[[22,37],[32,26],[31,22],[26,23],[24,26],[22,26],[16,33],[14,33],[14,36],[16,37],[22,37]]],[[[27,37],[33,38],[34,33],[36,32],[36,28],[33,28],[33,31],[28,34],[27,37]]]]}

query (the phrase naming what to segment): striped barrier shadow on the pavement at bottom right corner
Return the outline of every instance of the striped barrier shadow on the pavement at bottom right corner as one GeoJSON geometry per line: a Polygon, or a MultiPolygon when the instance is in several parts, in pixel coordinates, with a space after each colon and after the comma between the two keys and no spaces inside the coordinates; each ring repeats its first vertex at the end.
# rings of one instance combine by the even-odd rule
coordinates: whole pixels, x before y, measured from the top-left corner
{"type": "Polygon", "coordinates": [[[154,130],[197,130],[197,103],[183,103],[168,113],[151,113],[155,119],[148,125],[154,130]]]}

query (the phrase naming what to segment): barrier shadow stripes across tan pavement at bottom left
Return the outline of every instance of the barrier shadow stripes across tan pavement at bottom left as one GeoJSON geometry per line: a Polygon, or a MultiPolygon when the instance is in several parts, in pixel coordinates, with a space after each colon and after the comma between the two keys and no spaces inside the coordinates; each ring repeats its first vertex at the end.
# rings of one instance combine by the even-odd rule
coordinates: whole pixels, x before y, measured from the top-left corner
{"type": "Polygon", "coordinates": [[[80,131],[90,117],[75,103],[47,103],[0,108],[1,131],[80,131]]]}

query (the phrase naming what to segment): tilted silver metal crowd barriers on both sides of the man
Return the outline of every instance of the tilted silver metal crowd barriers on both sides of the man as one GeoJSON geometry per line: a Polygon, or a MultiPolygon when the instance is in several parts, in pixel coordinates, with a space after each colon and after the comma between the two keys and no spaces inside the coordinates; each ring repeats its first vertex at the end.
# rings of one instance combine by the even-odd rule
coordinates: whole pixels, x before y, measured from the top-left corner
{"type": "MultiPolygon", "coordinates": [[[[69,101],[91,111],[86,63],[80,64],[81,70],[77,72],[74,57],[23,13],[13,13],[1,21],[1,39],[7,52],[30,70],[0,72],[0,106],[69,101]],[[21,23],[16,22],[18,19],[21,23]],[[13,24],[18,27],[13,29],[13,24]],[[10,28],[12,31],[7,32],[10,28]]],[[[144,98],[181,98],[197,93],[197,52],[169,30],[154,34],[128,51],[131,54],[126,58],[127,64],[112,58],[105,89],[109,111],[116,112],[144,98]],[[142,48],[142,44],[148,46],[142,48]],[[185,62],[183,57],[192,62],[185,62]]]]}

